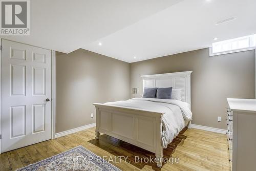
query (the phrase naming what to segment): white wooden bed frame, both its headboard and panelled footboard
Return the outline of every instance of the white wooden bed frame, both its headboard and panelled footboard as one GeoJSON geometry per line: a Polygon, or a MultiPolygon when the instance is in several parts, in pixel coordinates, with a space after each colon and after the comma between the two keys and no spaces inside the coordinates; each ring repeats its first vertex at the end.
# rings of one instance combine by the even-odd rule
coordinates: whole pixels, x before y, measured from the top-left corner
{"type": "MultiPolygon", "coordinates": [[[[191,104],[190,75],[192,71],[143,75],[144,87],[173,87],[182,89],[182,101],[191,104]]],[[[155,162],[162,166],[162,115],[164,113],[94,103],[96,108],[96,139],[100,133],[139,146],[156,154],[155,162]]],[[[190,123],[188,123],[190,128],[190,123]]]]}

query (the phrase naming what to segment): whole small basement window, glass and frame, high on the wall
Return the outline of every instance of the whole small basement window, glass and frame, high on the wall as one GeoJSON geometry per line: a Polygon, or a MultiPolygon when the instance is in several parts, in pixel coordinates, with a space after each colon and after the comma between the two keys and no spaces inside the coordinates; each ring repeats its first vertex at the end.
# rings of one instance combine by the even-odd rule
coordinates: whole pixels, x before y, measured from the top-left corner
{"type": "Polygon", "coordinates": [[[209,55],[222,55],[227,53],[242,52],[255,49],[256,34],[233,38],[225,41],[214,42],[210,47],[209,55]]]}

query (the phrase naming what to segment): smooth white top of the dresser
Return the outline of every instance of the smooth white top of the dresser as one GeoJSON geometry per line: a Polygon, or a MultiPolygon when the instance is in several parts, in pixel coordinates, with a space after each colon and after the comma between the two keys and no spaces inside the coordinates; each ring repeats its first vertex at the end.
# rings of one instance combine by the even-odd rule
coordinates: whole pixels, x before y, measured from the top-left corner
{"type": "Polygon", "coordinates": [[[256,99],[233,99],[227,98],[229,108],[233,111],[256,113],[256,99]]]}

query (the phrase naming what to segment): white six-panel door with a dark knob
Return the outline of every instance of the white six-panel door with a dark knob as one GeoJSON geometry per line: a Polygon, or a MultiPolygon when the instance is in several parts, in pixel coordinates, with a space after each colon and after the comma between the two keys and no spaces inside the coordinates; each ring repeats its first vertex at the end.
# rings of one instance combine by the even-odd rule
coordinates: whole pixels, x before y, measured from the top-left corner
{"type": "Polygon", "coordinates": [[[51,51],[2,39],[2,152],[51,139],[51,51]]]}

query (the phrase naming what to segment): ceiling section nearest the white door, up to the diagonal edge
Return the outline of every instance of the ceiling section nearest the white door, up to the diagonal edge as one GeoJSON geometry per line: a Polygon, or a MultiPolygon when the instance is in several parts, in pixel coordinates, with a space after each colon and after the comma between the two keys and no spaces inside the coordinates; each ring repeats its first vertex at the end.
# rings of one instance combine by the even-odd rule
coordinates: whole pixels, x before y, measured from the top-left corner
{"type": "Polygon", "coordinates": [[[33,0],[30,36],[2,36],[70,53],[181,0],[33,0]]]}

